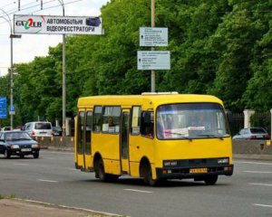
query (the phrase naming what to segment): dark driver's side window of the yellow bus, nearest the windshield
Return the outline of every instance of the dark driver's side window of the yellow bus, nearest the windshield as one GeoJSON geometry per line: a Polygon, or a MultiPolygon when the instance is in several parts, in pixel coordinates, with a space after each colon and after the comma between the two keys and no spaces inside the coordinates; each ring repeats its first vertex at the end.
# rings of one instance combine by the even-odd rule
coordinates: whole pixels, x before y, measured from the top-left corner
{"type": "Polygon", "coordinates": [[[141,136],[154,137],[154,112],[143,111],[141,113],[141,136]]]}

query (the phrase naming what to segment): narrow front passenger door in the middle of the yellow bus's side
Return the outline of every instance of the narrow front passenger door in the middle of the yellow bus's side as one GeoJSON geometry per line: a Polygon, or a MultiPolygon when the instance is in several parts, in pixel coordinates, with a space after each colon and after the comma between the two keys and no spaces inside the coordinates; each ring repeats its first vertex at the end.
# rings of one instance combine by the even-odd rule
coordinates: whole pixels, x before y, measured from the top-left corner
{"type": "Polygon", "coordinates": [[[130,174],[129,165],[129,122],[130,109],[122,109],[121,111],[121,173],[130,174]]]}

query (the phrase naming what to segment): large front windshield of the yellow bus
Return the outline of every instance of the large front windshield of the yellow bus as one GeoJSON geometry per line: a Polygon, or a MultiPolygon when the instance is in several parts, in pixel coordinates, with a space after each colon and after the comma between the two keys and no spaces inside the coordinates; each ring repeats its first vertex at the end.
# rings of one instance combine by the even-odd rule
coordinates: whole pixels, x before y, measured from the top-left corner
{"type": "Polygon", "coordinates": [[[157,109],[159,139],[229,137],[224,109],[216,103],[162,105],[157,109]]]}

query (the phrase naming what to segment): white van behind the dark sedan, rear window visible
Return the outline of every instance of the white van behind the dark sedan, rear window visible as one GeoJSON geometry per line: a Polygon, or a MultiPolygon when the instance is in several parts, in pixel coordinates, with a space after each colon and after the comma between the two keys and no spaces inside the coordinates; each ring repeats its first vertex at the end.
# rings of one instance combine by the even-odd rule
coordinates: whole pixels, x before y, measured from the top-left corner
{"type": "Polygon", "coordinates": [[[23,130],[31,137],[52,137],[53,135],[52,124],[46,121],[26,123],[23,130]]]}

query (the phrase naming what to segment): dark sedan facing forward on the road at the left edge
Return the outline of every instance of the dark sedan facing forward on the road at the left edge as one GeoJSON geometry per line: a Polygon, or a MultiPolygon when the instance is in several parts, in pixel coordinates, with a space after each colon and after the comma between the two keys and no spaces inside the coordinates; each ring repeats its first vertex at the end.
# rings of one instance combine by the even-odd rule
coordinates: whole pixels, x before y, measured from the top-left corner
{"type": "Polygon", "coordinates": [[[40,147],[40,144],[24,131],[0,132],[0,154],[3,154],[5,158],[10,158],[10,156],[23,158],[29,155],[38,158],[40,147]]]}

